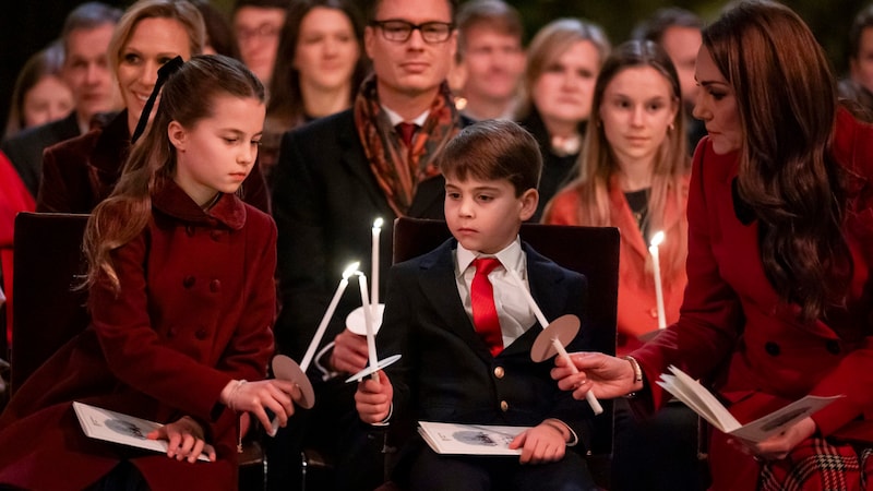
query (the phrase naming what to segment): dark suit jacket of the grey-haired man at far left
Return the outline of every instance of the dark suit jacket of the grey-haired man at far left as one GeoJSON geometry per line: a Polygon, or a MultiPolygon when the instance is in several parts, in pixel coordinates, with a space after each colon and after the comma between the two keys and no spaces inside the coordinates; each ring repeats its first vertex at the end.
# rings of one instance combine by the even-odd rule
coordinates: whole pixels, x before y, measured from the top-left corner
{"type": "Polygon", "coordinates": [[[43,151],[49,146],[79,136],[75,111],[70,116],[36,128],[28,128],[3,142],[0,146],[7,154],[27,190],[34,196],[39,189],[39,172],[43,168],[43,151]]]}

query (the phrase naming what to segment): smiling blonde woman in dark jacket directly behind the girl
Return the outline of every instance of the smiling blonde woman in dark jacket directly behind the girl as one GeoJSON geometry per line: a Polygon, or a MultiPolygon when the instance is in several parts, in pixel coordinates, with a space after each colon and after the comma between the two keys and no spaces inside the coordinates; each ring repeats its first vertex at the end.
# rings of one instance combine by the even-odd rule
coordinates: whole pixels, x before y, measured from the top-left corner
{"type": "MultiPolygon", "coordinates": [[[[200,55],[204,40],[203,16],[187,0],[140,0],[127,10],[108,49],[124,109],[105,127],[46,149],[37,212],[91,213],[111,193],[158,69],[200,55]]],[[[242,188],[248,203],[268,211],[258,165],[242,188]]]]}

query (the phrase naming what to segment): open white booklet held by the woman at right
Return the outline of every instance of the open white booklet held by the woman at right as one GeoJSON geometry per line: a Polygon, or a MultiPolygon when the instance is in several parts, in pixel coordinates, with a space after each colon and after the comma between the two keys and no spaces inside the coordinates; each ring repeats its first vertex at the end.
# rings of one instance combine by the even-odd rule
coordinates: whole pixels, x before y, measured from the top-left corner
{"type": "Polygon", "coordinates": [[[670,366],[669,370],[672,374],[661,373],[661,380],[656,382],[658,385],[685,403],[694,412],[709,421],[709,424],[725,433],[754,443],[763,442],[770,435],[785,431],[791,424],[842,397],[841,395],[806,396],[752,422],[740,424],[737,418],[696,380],[673,366],[670,366]]]}

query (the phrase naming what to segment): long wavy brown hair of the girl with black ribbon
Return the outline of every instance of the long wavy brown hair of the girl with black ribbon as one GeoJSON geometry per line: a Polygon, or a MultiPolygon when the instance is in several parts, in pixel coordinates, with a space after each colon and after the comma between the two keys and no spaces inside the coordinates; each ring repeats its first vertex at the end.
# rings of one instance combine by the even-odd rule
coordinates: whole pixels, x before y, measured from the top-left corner
{"type": "Polygon", "coordinates": [[[176,175],[176,147],[167,128],[178,121],[193,128],[210,118],[218,96],[264,101],[264,86],[240,61],[223,56],[199,56],[170,75],[148,130],[131,148],[112,194],[94,208],[83,248],[88,260],[85,286],[104,275],[121,287],[111,253],[139,236],[152,216],[152,194],[176,175]]]}

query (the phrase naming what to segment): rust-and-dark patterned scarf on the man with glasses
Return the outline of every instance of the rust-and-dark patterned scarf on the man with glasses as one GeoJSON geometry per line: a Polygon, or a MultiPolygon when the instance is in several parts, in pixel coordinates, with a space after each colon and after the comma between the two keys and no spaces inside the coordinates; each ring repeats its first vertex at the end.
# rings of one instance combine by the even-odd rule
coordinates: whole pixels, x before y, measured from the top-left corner
{"type": "Polygon", "coordinates": [[[430,106],[424,125],[407,148],[382,110],[375,76],[370,75],[355,99],[355,125],[370,169],[397,216],[406,215],[418,183],[440,173],[438,156],[458,132],[459,117],[445,82],[430,106]]]}

